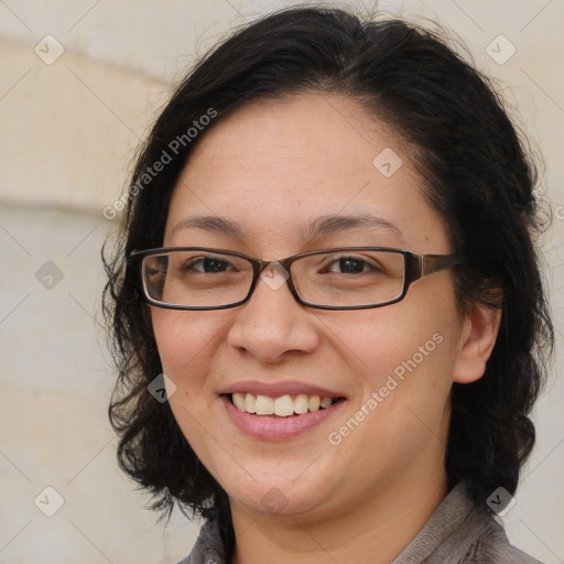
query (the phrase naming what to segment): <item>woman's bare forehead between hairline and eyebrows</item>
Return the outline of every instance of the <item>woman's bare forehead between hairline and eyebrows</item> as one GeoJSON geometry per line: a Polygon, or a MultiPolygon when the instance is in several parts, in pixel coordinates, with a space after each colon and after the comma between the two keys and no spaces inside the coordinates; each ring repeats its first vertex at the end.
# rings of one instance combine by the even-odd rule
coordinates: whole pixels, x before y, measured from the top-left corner
{"type": "Polygon", "coordinates": [[[165,239],[194,215],[231,218],[245,236],[267,236],[274,245],[303,242],[317,218],[372,215],[406,240],[423,230],[444,242],[410,153],[348,97],[249,104],[200,139],[174,188],[165,239]]]}

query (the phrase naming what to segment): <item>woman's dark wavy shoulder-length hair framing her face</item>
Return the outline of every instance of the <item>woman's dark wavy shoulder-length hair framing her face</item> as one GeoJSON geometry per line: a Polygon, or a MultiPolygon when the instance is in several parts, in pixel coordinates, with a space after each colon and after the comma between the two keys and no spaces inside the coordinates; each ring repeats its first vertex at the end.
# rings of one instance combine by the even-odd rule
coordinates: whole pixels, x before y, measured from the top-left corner
{"type": "Polygon", "coordinates": [[[553,347],[534,242],[544,227],[536,169],[488,78],[442,33],[401,19],[293,8],[236,31],[192,68],[155,120],[123,198],[116,248],[111,257],[102,249],[104,312],[119,371],[109,406],[119,465],[151,492],[151,509],[170,516],[177,502],[192,516],[219,512],[228,546],[234,531],[225,490],[191,448],[169,403],[148,392],[162,367],[148,306],[124,278],[124,259],[162,246],[171,193],[215,122],[243,104],[304,93],[351,97],[415,148],[424,194],[445,223],[453,252],[471,258],[453,272],[460,311],[469,304],[502,310],[484,377],[453,384],[448,485],[466,480],[475,505],[499,486],[516,491],[535,438],[529,414],[553,347]],[[188,128],[210,109],[214,122],[188,140],[188,128]],[[183,134],[172,161],[148,175],[183,134]]]}

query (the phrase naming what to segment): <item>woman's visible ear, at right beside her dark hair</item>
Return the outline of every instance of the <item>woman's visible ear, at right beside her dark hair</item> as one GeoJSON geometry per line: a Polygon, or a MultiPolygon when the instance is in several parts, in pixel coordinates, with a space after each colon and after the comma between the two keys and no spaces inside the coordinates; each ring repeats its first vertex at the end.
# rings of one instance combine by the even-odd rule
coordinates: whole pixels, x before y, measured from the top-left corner
{"type": "Polygon", "coordinates": [[[471,304],[462,323],[453,380],[469,383],[479,380],[486,371],[498,336],[501,308],[471,304]]]}

